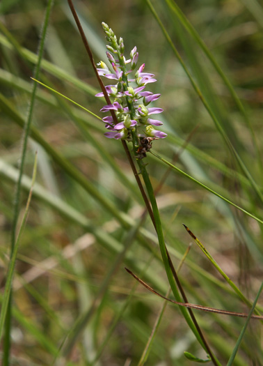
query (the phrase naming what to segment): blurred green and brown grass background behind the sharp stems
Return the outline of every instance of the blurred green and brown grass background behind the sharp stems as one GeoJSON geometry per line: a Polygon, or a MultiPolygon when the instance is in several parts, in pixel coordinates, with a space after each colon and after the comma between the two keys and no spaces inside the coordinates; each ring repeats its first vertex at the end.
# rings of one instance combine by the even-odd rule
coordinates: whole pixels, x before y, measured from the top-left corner
{"type": "MultiPolygon", "coordinates": [[[[149,4],[74,1],[96,63],[106,61],[101,27],[106,22],[124,39],[127,58],[136,45],[138,64],[145,63],[145,71],[156,76],[148,90],[161,93],[155,106],[164,108],[161,130],[168,138],[154,142],[153,151],[262,218],[262,3],[156,0],[151,4],[158,19],[149,4]]],[[[29,109],[46,6],[47,1],[38,0],[0,3],[1,289],[10,251],[21,124],[29,109]]],[[[67,1],[54,1],[51,9],[40,80],[102,117],[99,109],[105,103],[94,97],[99,86],[67,1]]],[[[124,267],[163,294],[168,281],[149,218],[140,237],[129,231],[144,208],[122,146],[103,136],[98,119],[42,86],[32,125],[64,163],[46,145],[29,140],[24,174],[30,178],[37,149],[38,184],[15,267],[11,364],[143,365],[140,358],[162,300],[140,286],[129,298],[134,280],[124,267]],[[87,184],[70,176],[67,162],[81,171],[87,184]],[[108,201],[125,215],[123,222],[107,208],[108,201]]],[[[147,162],[156,188],[167,166],[150,154],[147,162]]],[[[23,188],[19,222],[29,182],[23,188]]],[[[262,280],[262,225],[175,171],[157,201],[175,267],[191,242],[184,222],[253,301],[262,280]]],[[[194,243],[180,279],[191,303],[248,312],[194,243]]],[[[195,314],[225,365],[244,319],[195,314]]],[[[184,351],[206,357],[180,311],[168,305],[146,365],[190,365],[184,351]]],[[[261,357],[260,326],[253,321],[234,365],[261,365],[261,357]]]]}

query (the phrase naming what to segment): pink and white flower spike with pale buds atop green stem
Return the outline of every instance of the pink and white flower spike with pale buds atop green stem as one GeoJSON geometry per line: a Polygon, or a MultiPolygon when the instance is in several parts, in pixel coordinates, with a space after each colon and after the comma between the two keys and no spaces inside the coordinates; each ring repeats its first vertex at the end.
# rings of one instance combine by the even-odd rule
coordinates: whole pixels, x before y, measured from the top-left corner
{"type": "MultiPolygon", "coordinates": [[[[154,79],[153,74],[144,72],[144,63],[131,78],[131,73],[135,72],[138,62],[136,47],[131,50],[130,59],[126,60],[122,38],[117,40],[107,24],[102,23],[102,26],[106,33],[106,40],[109,42],[109,45],[106,45],[108,49],[106,56],[111,63],[113,73],[103,61],[98,63],[100,68],[97,68],[97,71],[99,75],[114,80],[115,84],[106,86],[106,92],[110,98],[113,98],[113,103],[105,105],[101,112],[114,111],[118,119],[118,123],[114,123],[112,116],[106,116],[102,119],[108,130],[104,135],[109,139],[126,139],[127,141],[135,139],[137,146],[141,146],[140,142],[145,138],[148,138],[148,142],[152,139],[163,139],[167,136],[166,133],[154,128],[163,123],[157,119],[152,119],[153,114],[159,114],[163,112],[163,109],[148,107],[150,102],[160,97],[160,94],[145,91],[147,84],[157,80],[154,79]],[[129,63],[131,65],[127,69],[129,63]]],[[[96,96],[101,97],[104,94],[101,92],[96,96]]]]}

